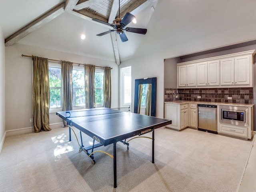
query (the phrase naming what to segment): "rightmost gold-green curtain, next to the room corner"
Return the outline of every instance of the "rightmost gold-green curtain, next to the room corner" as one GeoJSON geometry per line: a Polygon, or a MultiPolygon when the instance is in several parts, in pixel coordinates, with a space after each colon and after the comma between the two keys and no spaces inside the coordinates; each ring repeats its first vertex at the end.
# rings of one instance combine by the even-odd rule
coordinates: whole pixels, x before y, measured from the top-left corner
{"type": "Polygon", "coordinates": [[[111,68],[110,67],[104,67],[103,93],[104,93],[103,107],[111,108],[111,68]]]}

